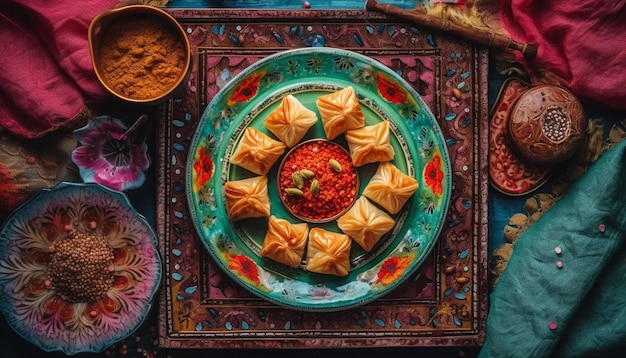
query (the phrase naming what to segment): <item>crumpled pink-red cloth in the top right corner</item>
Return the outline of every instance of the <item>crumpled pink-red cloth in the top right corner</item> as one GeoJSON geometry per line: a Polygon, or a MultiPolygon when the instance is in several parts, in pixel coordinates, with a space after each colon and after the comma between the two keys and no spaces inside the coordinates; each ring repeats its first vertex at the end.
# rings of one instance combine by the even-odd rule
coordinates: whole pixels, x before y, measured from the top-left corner
{"type": "MultiPolygon", "coordinates": [[[[505,29],[581,101],[626,109],[626,2],[503,0],[505,29]]],[[[520,59],[521,60],[521,59],[520,59]]]]}

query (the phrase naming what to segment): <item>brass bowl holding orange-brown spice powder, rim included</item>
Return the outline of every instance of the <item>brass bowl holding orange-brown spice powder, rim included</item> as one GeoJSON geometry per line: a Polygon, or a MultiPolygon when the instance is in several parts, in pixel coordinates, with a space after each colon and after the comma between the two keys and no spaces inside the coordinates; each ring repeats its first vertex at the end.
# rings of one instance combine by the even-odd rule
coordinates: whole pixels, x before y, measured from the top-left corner
{"type": "Polygon", "coordinates": [[[178,21],[159,8],[130,5],[105,11],[92,20],[88,39],[98,80],[119,99],[159,104],[187,82],[189,39],[178,21]],[[147,29],[154,31],[138,33],[147,29]]]}

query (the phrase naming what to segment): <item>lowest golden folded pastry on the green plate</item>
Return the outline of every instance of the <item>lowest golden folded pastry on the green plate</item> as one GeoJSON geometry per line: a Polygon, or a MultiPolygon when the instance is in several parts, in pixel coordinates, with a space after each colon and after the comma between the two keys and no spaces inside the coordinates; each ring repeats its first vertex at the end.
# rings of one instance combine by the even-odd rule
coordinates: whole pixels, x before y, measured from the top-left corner
{"type": "Polygon", "coordinates": [[[352,239],[319,227],[309,232],[306,269],[327,275],[346,276],[350,271],[352,239]]]}

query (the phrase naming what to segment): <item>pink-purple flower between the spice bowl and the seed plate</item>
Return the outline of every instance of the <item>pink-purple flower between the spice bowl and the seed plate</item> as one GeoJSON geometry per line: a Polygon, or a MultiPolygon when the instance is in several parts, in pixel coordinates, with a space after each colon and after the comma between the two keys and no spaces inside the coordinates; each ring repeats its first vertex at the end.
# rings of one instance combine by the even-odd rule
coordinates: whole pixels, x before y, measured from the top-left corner
{"type": "MultiPolygon", "coordinates": [[[[140,117],[145,120],[145,117],[140,117]]],[[[114,190],[136,189],[150,167],[148,146],[133,140],[119,119],[99,116],[74,131],[79,146],[72,160],[85,183],[98,183],[114,190]]]]}

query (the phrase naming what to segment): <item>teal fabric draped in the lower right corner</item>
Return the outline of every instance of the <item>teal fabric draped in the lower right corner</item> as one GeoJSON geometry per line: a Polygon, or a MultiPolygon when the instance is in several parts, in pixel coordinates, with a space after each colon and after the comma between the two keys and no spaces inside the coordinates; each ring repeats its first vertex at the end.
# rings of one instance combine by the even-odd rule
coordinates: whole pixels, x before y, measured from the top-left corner
{"type": "Polygon", "coordinates": [[[490,295],[479,357],[608,357],[626,349],[625,230],[626,141],[517,239],[490,295]]]}

